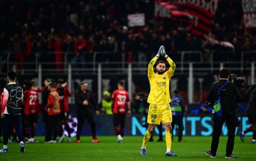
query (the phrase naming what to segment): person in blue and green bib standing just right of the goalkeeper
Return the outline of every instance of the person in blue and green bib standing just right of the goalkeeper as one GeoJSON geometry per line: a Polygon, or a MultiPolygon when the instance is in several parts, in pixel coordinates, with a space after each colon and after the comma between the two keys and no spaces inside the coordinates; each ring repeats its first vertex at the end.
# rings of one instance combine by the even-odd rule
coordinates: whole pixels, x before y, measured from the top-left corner
{"type": "MultiPolygon", "coordinates": [[[[178,125],[179,133],[178,133],[178,142],[184,142],[182,139],[182,132],[184,130],[183,126],[183,114],[185,111],[185,102],[182,96],[179,95],[179,90],[174,90],[174,95],[171,97],[171,114],[172,114],[172,122],[171,127],[174,130],[174,125],[178,125]]],[[[171,131],[173,133],[173,130],[171,131]]],[[[173,136],[173,135],[172,135],[173,136]]]]}

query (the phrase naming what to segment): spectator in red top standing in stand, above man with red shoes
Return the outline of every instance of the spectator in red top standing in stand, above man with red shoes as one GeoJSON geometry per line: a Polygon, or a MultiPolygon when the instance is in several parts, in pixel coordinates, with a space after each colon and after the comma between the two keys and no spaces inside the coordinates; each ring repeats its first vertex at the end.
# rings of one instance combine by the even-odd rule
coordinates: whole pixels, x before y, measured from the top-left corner
{"type": "Polygon", "coordinates": [[[78,36],[78,39],[75,41],[75,52],[76,55],[73,58],[74,68],[79,68],[79,66],[76,64],[77,62],[81,63],[82,69],[85,68],[85,54],[86,54],[86,45],[87,41],[86,39],[80,34],[78,36]]]}

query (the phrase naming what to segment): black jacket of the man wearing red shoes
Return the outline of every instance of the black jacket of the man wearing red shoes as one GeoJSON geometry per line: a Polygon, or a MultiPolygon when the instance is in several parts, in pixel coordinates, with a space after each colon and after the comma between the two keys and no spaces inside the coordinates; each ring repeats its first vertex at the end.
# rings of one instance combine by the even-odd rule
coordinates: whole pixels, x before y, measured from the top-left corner
{"type": "Polygon", "coordinates": [[[79,90],[78,92],[76,92],[75,102],[78,115],[92,115],[94,112],[93,107],[95,111],[98,111],[98,105],[93,97],[93,93],[89,90],[86,90],[85,92],[79,90]],[[82,103],[86,99],[89,103],[88,105],[83,105],[82,103]]]}

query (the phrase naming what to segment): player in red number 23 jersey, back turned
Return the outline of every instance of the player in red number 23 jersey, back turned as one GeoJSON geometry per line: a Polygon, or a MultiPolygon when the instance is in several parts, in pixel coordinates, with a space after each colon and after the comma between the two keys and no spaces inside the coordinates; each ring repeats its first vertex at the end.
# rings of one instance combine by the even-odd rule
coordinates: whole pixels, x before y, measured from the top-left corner
{"type": "Polygon", "coordinates": [[[24,142],[34,142],[35,140],[35,127],[37,124],[37,116],[40,113],[39,99],[37,92],[32,89],[35,87],[35,82],[28,82],[26,84],[26,91],[24,92],[24,142]],[[33,84],[32,84],[33,83],[33,84]]]}

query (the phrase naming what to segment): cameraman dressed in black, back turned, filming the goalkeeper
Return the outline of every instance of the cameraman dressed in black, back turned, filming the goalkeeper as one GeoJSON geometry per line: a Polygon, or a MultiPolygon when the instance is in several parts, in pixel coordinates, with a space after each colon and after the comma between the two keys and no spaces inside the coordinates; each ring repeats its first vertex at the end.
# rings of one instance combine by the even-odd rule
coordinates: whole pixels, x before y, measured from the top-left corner
{"type": "Polygon", "coordinates": [[[232,155],[232,151],[234,148],[235,129],[238,120],[236,116],[236,103],[241,101],[241,97],[236,85],[232,82],[227,83],[230,74],[231,72],[229,69],[222,69],[219,72],[220,80],[213,83],[206,98],[207,105],[209,105],[210,103],[210,105],[213,106],[215,101],[217,101],[218,99],[218,90],[223,86],[223,88],[221,88],[219,92],[221,112],[223,117],[220,121],[217,116],[213,116],[213,139],[211,144],[211,150],[206,151],[206,155],[210,157],[216,157],[221,129],[223,123],[226,121],[228,128],[228,142],[226,146],[225,158],[236,158],[234,155],[232,155]]]}

